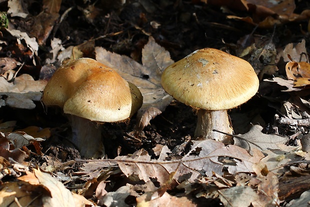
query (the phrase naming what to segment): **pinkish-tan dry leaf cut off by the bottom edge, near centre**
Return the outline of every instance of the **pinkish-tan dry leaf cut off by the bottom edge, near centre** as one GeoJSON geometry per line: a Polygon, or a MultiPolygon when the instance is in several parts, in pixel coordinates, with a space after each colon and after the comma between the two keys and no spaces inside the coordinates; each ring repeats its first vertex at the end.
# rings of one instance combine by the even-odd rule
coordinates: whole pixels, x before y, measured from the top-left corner
{"type": "Polygon", "coordinates": [[[151,192],[146,192],[140,197],[136,198],[137,207],[160,207],[160,206],[175,206],[175,207],[195,207],[196,204],[192,203],[186,197],[172,196],[164,192],[162,196],[156,199],[150,199],[151,192]]]}

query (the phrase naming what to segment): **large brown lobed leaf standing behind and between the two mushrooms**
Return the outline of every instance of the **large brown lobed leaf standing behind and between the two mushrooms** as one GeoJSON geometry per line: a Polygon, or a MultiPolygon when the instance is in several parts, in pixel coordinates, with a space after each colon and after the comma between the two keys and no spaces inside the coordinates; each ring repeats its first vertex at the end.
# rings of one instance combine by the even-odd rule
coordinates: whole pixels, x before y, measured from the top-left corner
{"type": "Polygon", "coordinates": [[[170,55],[156,44],[152,37],[142,50],[142,65],[127,56],[121,56],[96,47],[96,60],[115,69],[126,81],[136,85],[143,95],[143,105],[137,112],[136,131],[139,133],[151,119],[164,111],[173,99],[160,84],[162,71],[173,63],[170,55]]]}

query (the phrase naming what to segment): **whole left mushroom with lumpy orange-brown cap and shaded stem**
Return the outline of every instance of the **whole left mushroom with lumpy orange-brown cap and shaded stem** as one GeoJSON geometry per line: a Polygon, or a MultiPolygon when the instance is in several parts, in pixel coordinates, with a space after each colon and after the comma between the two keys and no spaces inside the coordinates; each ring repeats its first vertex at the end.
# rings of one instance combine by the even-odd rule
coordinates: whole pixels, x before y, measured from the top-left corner
{"type": "Polygon", "coordinates": [[[141,107],[142,100],[135,85],[90,58],[63,64],[42,95],[45,106],[59,106],[68,114],[72,143],[84,158],[102,158],[105,150],[100,124],[131,117],[141,107]]]}

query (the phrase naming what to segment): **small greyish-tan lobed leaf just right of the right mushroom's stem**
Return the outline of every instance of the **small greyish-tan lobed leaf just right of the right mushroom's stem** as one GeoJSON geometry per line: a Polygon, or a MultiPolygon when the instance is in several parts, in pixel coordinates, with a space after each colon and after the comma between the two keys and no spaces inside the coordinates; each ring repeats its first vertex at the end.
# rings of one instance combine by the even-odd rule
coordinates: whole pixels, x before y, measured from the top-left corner
{"type": "Polygon", "coordinates": [[[267,149],[280,149],[285,144],[289,137],[283,137],[277,134],[264,134],[261,132],[262,127],[260,125],[254,125],[245,134],[238,134],[238,137],[234,137],[234,145],[242,147],[253,153],[253,149],[267,150],[267,149]]]}

